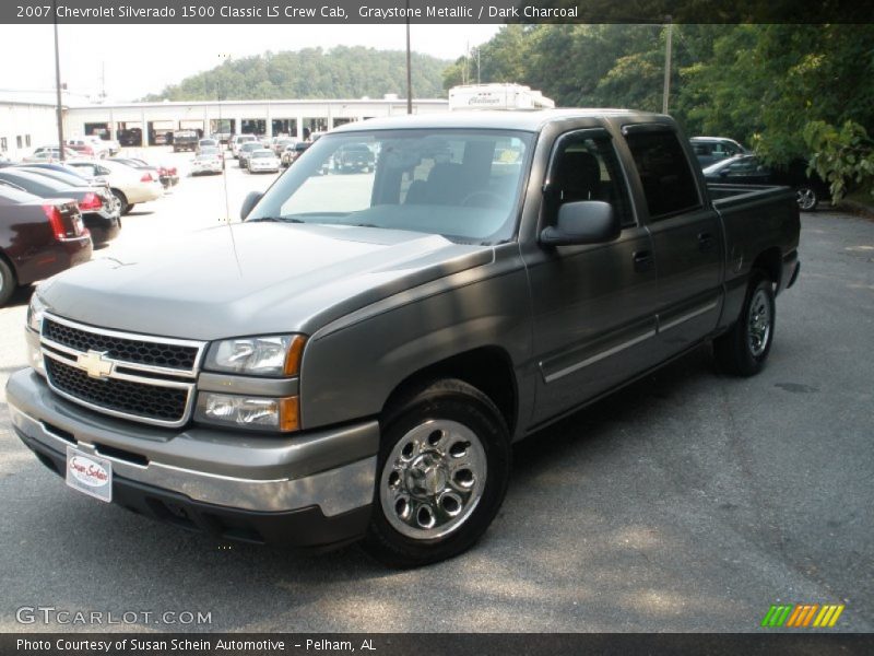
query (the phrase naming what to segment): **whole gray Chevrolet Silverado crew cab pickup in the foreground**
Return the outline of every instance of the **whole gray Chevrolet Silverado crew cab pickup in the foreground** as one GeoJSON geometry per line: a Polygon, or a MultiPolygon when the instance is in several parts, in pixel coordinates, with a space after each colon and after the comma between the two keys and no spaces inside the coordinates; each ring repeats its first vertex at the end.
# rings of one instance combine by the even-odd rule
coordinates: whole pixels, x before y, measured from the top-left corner
{"type": "Polygon", "coordinates": [[[40,285],[15,433],[103,501],[394,566],[483,535],[513,442],[706,341],[758,372],[799,272],[793,191],[628,110],[344,126],[243,215],[40,285]]]}

